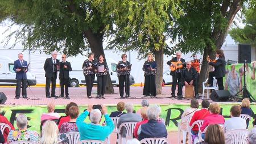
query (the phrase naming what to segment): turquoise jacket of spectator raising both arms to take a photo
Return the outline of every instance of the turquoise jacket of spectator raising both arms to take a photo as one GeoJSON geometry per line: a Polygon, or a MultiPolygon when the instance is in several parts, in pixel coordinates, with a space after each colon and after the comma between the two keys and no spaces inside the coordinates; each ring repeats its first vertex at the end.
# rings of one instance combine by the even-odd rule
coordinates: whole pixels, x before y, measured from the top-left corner
{"type": "Polygon", "coordinates": [[[85,139],[93,139],[105,141],[105,139],[113,132],[114,122],[111,120],[108,114],[104,115],[106,119],[106,126],[97,124],[86,124],[85,118],[89,115],[88,111],[82,113],[76,120],[77,128],[80,133],[80,141],[85,139]]]}

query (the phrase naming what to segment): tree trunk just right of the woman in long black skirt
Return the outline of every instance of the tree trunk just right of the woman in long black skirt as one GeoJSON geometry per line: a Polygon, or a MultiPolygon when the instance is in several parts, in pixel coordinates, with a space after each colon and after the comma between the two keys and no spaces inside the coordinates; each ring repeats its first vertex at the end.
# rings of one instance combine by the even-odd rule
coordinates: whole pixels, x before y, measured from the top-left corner
{"type": "Polygon", "coordinates": [[[163,83],[163,48],[159,51],[155,50],[155,62],[157,65],[155,84],[156,84],[156,94],[162,94],[162,83],[163,83]]]}

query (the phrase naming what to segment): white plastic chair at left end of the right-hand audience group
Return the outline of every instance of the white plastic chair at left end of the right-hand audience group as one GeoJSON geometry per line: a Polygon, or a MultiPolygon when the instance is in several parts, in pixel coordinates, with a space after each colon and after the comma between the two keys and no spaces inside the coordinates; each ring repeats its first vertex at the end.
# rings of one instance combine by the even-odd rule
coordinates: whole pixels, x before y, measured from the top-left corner
{"type": "MultiPolygon", "coordinates": [[[[187,132],[189,131],[189,122],[191,120],[192,116],[185,116],[183,118],[181,118],[181,122],[187,122],[187,128],[184,130],[181,130],[180,126],[180,122],[177,123],[178,126],[178,143],[180,143],[180,132],[183,132],[183,144],[186,143],[186,138],[187,138],[187,132]]],[[[188,141],[191,141],[191,138],[188,138],[188,141]]]]}

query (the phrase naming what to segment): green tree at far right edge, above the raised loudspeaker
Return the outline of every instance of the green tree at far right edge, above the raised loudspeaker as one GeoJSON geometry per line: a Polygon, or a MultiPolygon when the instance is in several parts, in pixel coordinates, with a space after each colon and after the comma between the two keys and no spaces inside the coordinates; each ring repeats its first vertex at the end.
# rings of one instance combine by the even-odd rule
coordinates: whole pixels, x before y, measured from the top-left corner
{"type": "Polygon", "coordinates": [[[249,9],[245,13],[245,27],[233,28],[229,33],[236,43],[256,46],[256,10],[249,9]]]}

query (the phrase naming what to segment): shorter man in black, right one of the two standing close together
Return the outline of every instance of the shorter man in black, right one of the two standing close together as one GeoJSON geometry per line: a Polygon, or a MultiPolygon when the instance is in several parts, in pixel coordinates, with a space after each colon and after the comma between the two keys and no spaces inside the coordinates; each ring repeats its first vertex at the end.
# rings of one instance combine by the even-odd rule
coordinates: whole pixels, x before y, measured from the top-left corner
{"type": "Polygon", "coordinates": [[[70,62],[66,61],[67,55],[62,55],[62,61],[60,62],[60,97],[64,97],[64,85],[65,85],[65,95],[66,99],[69,99],[68,85],[69,85],[69,71],[72,71],[70,62]]]}

